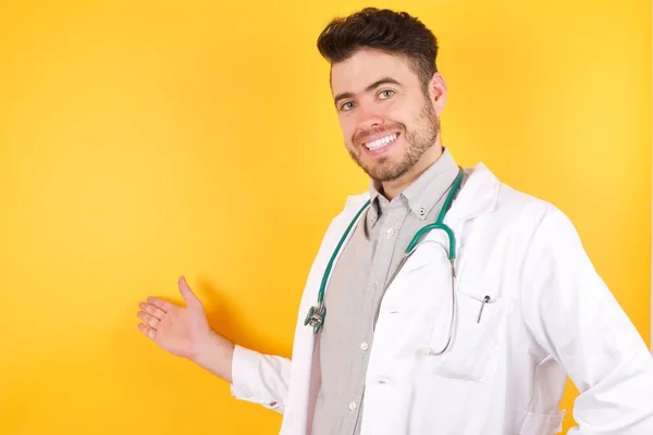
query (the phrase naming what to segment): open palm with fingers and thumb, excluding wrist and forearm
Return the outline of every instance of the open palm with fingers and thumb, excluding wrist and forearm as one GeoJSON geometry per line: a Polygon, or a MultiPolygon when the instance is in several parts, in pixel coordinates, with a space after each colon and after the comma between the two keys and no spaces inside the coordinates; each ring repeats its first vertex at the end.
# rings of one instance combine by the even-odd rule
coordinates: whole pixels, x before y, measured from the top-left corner
{"type": "Polygon", "coordinates": [[[167,300],[149,297],[138,307],[138,318],[144,322],[138,330],[162,349],[184,358],[193,358],[199,346],[211,334],[201,301],[190,290],[186,279],[178,281],[180,291],[186,301],[181,307],[167,300]]]}

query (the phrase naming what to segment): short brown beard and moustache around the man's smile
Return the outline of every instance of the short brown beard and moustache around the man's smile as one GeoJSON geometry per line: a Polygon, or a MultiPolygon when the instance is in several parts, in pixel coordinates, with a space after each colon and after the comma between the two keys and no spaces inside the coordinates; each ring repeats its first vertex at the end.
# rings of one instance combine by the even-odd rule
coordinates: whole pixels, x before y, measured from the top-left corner
{"type": "Polygon", "coordinates": [[[347,147],[349,156],[358,164],[358,166],[360,166],[370,176],[370,178],[378,182],[390,182],[396,179],[410,171],[410,169],[415,166],[422,154],[429,148],[435,145],[435,139],[440,134],[440,119],[433,110],[433,107],[428,102],[424,103],[420,114],[417,116],[416,125],[423,125],[423,128],[409,132],[405,124],[394,123],[390,126],[384,126],[383,128],[358,132],[352,140],[354,148],[350,149],[347,147]],[[360,147],[365,147],[365,138],[377,133],[390,132],[393,129],[401,130],[403,133],[404,140],[406,141],[407,148],[401,160],[395,162],[391,157],[383,157],[381,159],[377,159],[373,164],[365,164],[360,159],[361,152],[356,152],[357,150],[360,150],[360,147]]]}

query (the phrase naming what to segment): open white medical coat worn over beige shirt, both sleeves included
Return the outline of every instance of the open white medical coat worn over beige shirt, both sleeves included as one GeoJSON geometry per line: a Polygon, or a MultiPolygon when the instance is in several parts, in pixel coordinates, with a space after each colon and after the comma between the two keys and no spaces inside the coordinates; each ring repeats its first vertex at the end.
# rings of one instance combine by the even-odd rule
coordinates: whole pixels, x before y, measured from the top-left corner
{"type": "MultiPolygon", "coordinates": [[[[292,360],[236,346],[232,394],[283,413],[280,434],[310,428],[312,328],[326,263],[367,194],[332,221],[299,304],[292,360]]],[[[501,183],[482,163],[445,223],[456,235],[456,328],[448,246],[430,232],[389,286],[370,348],[362,435],[559,433],[567,375],[583,435],[653,435],[653,358],[592,266],[571,222],[552,204],[501,183]],[[481,301],[483,307],[478,322],[481,301]]],[[[326,318],[326,322],[329,322],[326,318]]],[[[334,356],[334,358],[337,358],[334,356]]],[[[343,412],[349,412],[343,403],[343,412]]]]}

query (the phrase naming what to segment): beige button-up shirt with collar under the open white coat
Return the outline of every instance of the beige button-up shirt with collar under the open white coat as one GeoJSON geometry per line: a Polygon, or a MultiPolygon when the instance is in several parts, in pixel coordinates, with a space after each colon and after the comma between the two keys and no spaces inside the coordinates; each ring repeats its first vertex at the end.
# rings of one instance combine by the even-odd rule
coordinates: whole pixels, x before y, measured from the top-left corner
{"type": "Polygon", "coordinates": [[[457,175],[445,149],[392,201],[370,185],[371,207],[343,247],[326,288],[326,316],[316,344],[321,382],[312,435],[359,434],[372,328],[385,286],[415,233],[438,219],[457,175]]]}

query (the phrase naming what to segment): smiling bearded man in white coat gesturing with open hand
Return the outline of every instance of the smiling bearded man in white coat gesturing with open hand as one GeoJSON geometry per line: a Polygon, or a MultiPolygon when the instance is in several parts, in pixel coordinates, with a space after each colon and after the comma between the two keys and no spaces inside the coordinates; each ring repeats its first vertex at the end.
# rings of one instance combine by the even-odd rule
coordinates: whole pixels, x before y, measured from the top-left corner
{"type": "Polygon", "coordinates": [[[571,223],[443,147],[431,32],[366,9],[318,48],[371,183],[326,231],[292,361],[211,331],[184,278],[187,306],[148,298],[140,331],[283,413],[282,434],[553,434],[567,375],[576,433],[653,434],[653,359],[571,223]]]}

